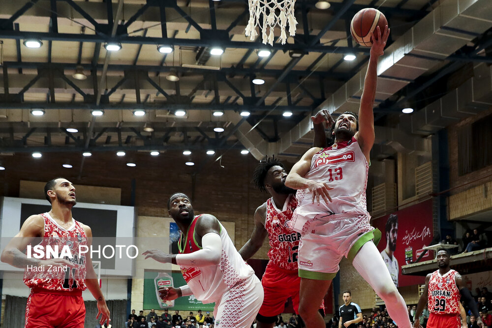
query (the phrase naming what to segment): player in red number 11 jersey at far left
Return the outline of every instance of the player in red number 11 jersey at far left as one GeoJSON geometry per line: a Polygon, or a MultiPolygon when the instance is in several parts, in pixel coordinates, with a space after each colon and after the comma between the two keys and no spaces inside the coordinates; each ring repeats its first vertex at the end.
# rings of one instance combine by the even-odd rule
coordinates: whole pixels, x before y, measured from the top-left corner
{"type": "Polygon", "coordinates": [[[109,309],[99,288],[89,256],[79,256],[79,245],[90,247],[92,231],[72,218],[75,187],[64,178],[48,181],[49,212],[31,215],[1,253],[1,261],[24,268],[24,283],[31,288],[26,307],[26,328],[83,328],[86,308],[82,291],[87,288],[97,300],[100,324],[108,322],[109,309]],[[69,247],[72,258],[28,258],[28,245],[69,247]]]}

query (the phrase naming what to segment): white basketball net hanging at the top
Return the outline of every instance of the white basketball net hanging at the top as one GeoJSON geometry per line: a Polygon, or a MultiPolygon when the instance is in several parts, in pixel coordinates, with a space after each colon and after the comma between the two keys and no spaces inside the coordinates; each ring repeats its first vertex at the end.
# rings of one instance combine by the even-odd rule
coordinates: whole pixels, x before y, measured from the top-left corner
{"type": "Polygon", "coordinates": [[[274,29],[280,28],[280,43],[285,44],[287,34],[285,28],[289,24],[290,36],[296,35],[296,17],[294,16],[294,5],[296,0],[248,0],[249,21],[246,26],[246,36],[253,41],[258,33],[256,27],[261,30],[261,40],[274,45],[274,29]],[[277,13],[276,13],[277,11],[277,13]],[[260,18],[262,24],[260,25],[260,18]],[[269,30],[267,35],[267,29],[269,30]]]}

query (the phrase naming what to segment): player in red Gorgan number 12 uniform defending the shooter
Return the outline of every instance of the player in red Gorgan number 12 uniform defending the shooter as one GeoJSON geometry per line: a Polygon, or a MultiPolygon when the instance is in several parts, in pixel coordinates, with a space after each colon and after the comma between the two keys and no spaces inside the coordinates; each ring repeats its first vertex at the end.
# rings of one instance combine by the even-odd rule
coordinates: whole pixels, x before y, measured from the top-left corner
{"type": "MultiPolygon", "coordinates": [[[[333,123],[327,110],[311,117],[314,123],[313,144],[326,144],[323,123],[333,123]]],[[[269,262],[261,279],[265,297],[256,316],[257,328],[272,328],[282,313],[287,298],[292,298],[294,311],[299,313],[299,284],[297,249],[301,234],[289,228],[292,213],[297,207],[295,190],[285,186],[287,172],[277,159],[262,161],[254,170],[253,181],[261,191],[272,196],[254,213],[254,229],[246,244],[239,250],[244,260],[253,256],[268,236],[269,262]]]]}

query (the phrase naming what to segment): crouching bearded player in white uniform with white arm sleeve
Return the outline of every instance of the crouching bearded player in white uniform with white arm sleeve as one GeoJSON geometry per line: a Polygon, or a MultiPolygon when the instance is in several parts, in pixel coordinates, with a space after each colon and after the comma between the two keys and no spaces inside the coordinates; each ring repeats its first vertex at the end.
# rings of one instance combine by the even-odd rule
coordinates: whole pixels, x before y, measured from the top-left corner
{"type": "Polygon", "coordinates": [[[172,300],[194,295],[203,303],[215,302],[215,327],[249,328],[263,302],[263,288],[253,269],[215,216],[195,217],[188,196],[173,194],[168,209],[182,231],[180,254],[150,249],[142,255],[179,265],[186,285],[159,288],[161,298],[172,300]]]}

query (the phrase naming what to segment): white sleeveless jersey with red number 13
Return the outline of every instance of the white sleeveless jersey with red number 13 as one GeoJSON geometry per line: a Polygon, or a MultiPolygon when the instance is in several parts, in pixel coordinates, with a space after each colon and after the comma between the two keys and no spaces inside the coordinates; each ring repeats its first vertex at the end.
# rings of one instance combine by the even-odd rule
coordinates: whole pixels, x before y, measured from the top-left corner
{"type": "Polygon", "coordinates": [[[312,204],[309,189],[299,189],[296,198],[299,202],[294,211],[292,225],[301,232],[304,223],[318,216],[321,219],[369,216],[366,202],[366,188],[369,165],[355,138],[333,144],[318,151],[311,160],[311,167],[305,178],[326,182],[333,189],[329,191],[332,203],[326,204],[320,197],[320,204],[312,204]],[[325,214],[322,216],[319,214],[325,214]]]}

